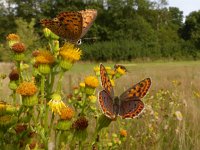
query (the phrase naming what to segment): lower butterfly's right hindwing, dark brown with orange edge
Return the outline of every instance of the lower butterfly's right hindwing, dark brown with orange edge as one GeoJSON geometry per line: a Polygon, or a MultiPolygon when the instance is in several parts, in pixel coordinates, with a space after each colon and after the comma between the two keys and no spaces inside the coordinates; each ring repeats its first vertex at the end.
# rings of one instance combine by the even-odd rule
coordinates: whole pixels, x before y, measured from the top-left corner
{"type": "Polygon", "coordinates": [[[121,101],[119,115],[122,119],[137,117],[144,109],[144,103],[140,99],[121,101]]]}

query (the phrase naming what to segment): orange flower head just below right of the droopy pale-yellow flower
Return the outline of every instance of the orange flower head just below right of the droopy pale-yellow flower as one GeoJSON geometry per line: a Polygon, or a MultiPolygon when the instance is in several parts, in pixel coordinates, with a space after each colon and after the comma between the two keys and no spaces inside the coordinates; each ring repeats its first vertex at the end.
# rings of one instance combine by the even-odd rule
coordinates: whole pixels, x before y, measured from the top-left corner
{"type": "Polygon", "coordinates": [[[70,107],[64,107],[61,109],[60,118],[63,120],[71,120],[74,116],[74,111],[70,107]]]}

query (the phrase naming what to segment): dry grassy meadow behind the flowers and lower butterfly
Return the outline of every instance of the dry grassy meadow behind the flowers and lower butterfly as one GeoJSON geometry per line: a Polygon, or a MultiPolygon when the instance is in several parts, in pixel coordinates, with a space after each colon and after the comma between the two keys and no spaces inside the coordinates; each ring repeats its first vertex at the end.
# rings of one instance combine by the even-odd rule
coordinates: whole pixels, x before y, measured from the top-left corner
{"type": "MultiPolygon", "coordinates": [[[[100,135],[102,148],[110,144],[109,149],[198,150],[200,147],[200,61],[121,64],[128,69],[128,73],[116,80],[115,95],[120,95],[125,89],[146,77],[151,77],[152,86],[149,94],[143,98],[146,104],[144,113],[138,119],[118,118],[100,135]],[[128,136],[124,141],[119,142],[120,128],[127,130],[128,136]]],[[[75,64],[65,75],[63,84],[64,89],[68,91],[66,94],[72,87],[78,86],[85,76],[94,75],[93,67],[97,65],[99,63],[75,64]]],[[[114,63],[104,63],[104,65],[113,67],[114,63]]],[[[9,72],[10,65],[1,66],[1,73],[9,72]]],[[[8,91],[7,83],[8,79],[5,80],[1,90],[2,99],[8,91]]]]}

